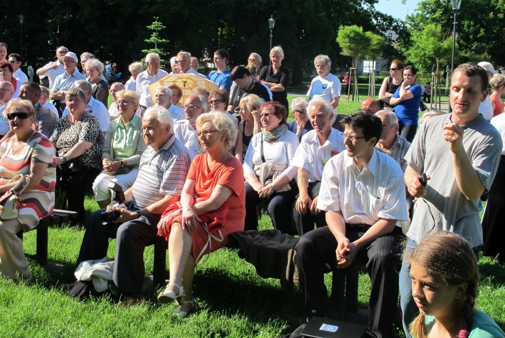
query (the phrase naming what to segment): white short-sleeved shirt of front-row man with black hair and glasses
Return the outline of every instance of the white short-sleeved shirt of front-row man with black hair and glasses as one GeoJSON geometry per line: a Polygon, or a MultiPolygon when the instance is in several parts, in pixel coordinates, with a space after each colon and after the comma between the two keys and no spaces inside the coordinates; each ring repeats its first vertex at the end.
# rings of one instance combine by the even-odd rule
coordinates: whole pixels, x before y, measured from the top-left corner
{"type": "MultiPolygon", "coordinates": [[[[407,220],[400,166],[376,149],[360,172],[347,151],[325,165],[317,208],[341,211],[345,223],[373,225],[379,218],[407,220]]],[[[399,222],[396,222],[399,226],[399,222]]]]}

